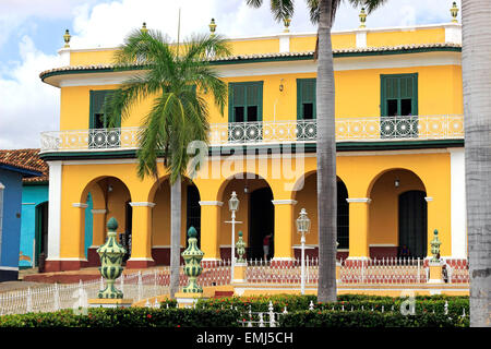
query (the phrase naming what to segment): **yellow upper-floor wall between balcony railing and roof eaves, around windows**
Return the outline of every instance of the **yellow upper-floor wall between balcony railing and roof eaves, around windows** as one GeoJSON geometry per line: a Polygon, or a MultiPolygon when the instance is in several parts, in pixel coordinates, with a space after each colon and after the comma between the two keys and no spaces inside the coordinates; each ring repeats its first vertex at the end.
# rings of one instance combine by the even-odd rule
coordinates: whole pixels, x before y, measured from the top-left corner
{"type": "MultiPolygon", "coordinates": [[[[381,74],[418,73],[420,116],[462,115],[462,70],[457,65],[371,69],[335,72],[336,118],[379,117],[381,74]],[[354,103],[354,99],[356,103],[354,103]]],[[[227,77],[226,83],[263,81],[263,121],[297,119],[297,79],[315,77],[315,73],[227,77]],[[282,81],[283,79],[283,81],[282,81]],[[284,91],[279,91],[283,83],[284,91]]],[[[112,89],[116,85],[61,88],[61,130],[86,130],[89,119],[89,91],[112,89]]],[[[209,106],[209,122],[228,122],[228,107],[219,113],[211,94],[203,95],[209,106]]],[[[151,101],[135,105],[122,127],[139,127],[151,101]]]]}

